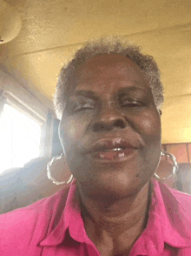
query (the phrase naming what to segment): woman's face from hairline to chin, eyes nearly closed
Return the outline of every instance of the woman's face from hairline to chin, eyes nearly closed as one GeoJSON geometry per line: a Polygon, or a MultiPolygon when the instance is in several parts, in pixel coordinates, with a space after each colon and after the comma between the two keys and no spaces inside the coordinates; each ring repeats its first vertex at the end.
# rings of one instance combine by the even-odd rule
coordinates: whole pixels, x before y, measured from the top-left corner
{"type": "Polygon", "coordinates": [[[77,183],[92,192],[140,190],[161,152],[161,120],[148,80],[128,57],[92,57],[77,71],[60,138],[77,183]]]}

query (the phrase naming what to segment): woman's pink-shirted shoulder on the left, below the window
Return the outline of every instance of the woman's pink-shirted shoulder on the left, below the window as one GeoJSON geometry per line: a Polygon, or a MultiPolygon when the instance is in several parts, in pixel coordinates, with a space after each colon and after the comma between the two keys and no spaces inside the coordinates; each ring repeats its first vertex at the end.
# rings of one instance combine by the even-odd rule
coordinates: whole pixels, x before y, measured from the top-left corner
{"type": "Polygon", "coordinates": [[[0,254],[2,248],[8,246],[18,248],[19,243],[23,248],[29,245],[34,237],[36,238],[36,243],[44,239],[47,233],[50,232],[49,226],[53,225],[57,216],[61,216],[68,192],[69,186],[49,198],[41,199],[32,205],[1,214],[0,254]]]}

